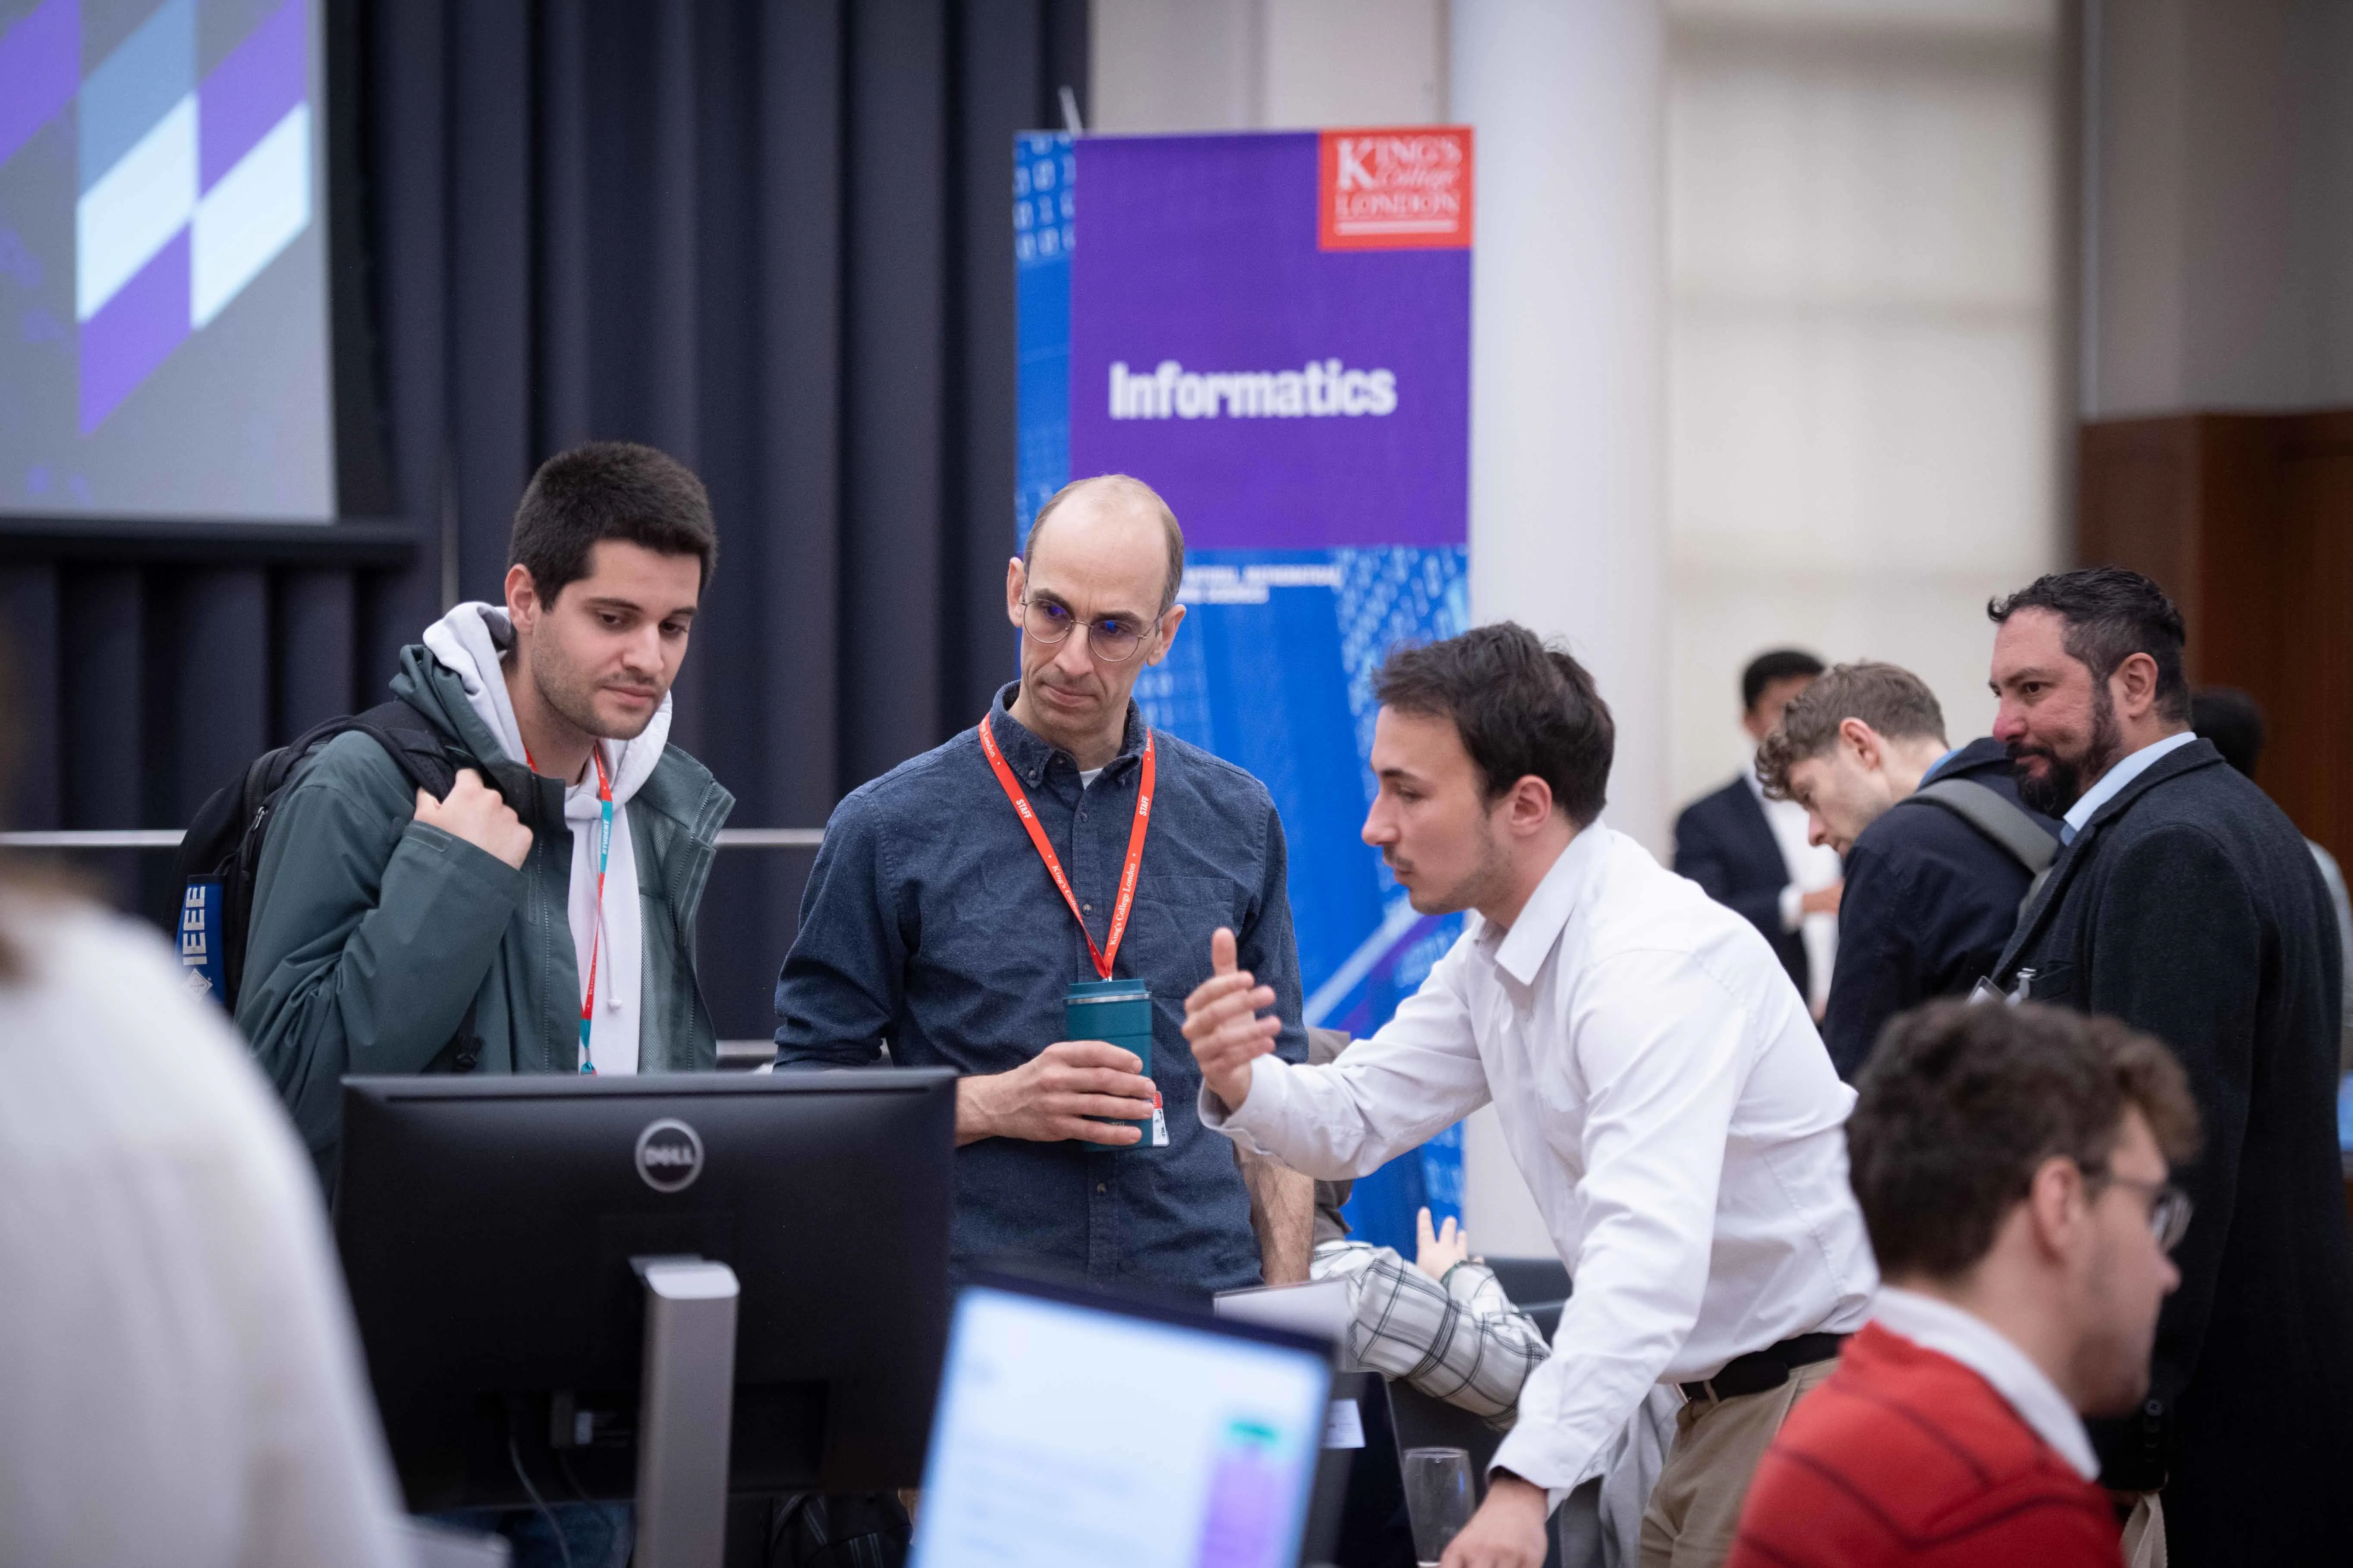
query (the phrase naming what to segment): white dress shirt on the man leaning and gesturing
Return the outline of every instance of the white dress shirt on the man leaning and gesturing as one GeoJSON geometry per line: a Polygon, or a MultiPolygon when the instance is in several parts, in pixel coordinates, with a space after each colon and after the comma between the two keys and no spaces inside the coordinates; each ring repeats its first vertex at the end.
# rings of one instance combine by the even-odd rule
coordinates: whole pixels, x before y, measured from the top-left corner
{"type": "Polygon", "coordinates": [[[1379,1034],[1329,1067],[1261,1056],[1202,1124],[1341,1180],[1489,1100],[1574,1279],[1494,1455],[1555,1502],[1652,1385],[1868,1314],[1854,1091],[1755,926],[1602,823],[1508,931],[1473,914],[1379,1034]]]}

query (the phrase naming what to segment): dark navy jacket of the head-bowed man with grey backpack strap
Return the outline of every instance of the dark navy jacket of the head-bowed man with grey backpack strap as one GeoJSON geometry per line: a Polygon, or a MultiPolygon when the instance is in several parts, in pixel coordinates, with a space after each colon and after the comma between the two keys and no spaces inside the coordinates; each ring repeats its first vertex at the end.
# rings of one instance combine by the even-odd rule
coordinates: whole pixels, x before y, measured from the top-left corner
{"type": "MultiPolygon", "coordinates": [[[[1944,778],[1986,785],[2024,811],[2000,741],[1969,741],[1920,783],[1944,778]]],[[[2059,837],[2059,823],[2028,816],[2059,837]]],[[[1854,1079],[1889,1018],[1934,997],[1967,997],[1993,973],[2031,879],[2007,849],[1944,806],[1899,804],[1864,827],[1847,851],[1838,969],[1821,1020],[1838,1077],[1854,1079]]]]}

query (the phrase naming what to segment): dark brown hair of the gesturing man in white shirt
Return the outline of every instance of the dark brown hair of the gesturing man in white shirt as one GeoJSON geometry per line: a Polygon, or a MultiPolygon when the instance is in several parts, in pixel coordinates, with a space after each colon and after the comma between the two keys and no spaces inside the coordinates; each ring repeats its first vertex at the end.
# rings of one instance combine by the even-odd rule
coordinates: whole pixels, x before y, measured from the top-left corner
{"type": "Polygon", "coordinates": [[[1529,773],[1584,827],[1609,802],[1617,724],[1593,677],[1513,621],[1398,649],[1374,679],[1384,708],[1452,719],[1489,802],[1529,773]]]}

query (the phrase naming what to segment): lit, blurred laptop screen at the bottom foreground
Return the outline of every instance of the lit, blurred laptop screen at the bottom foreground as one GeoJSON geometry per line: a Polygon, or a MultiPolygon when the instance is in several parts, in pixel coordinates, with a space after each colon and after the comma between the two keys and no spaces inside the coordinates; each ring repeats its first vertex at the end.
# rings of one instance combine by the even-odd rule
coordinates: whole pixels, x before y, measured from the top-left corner
{"type": "Polygon", "coordinates": [[[958,1298],[915,1568],[1292,1568],[1329,1356],[995,1286],[958,1298]]]}

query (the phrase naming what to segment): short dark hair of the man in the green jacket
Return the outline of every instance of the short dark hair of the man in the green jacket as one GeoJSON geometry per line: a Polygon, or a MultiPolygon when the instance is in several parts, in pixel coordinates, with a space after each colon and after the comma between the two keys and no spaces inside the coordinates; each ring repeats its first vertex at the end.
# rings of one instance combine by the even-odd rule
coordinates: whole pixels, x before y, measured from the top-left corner
{"type": "Polygon", "coordinates": [[[654,555],[692,555],[701,562],[701,588],[720,564],[704,482],[638,442],[588,442],[541,463],[515,508],[506,562],[527,569],[539,597],[553,604],[588,576],[588,552],[607,538],[654,555]]]}

